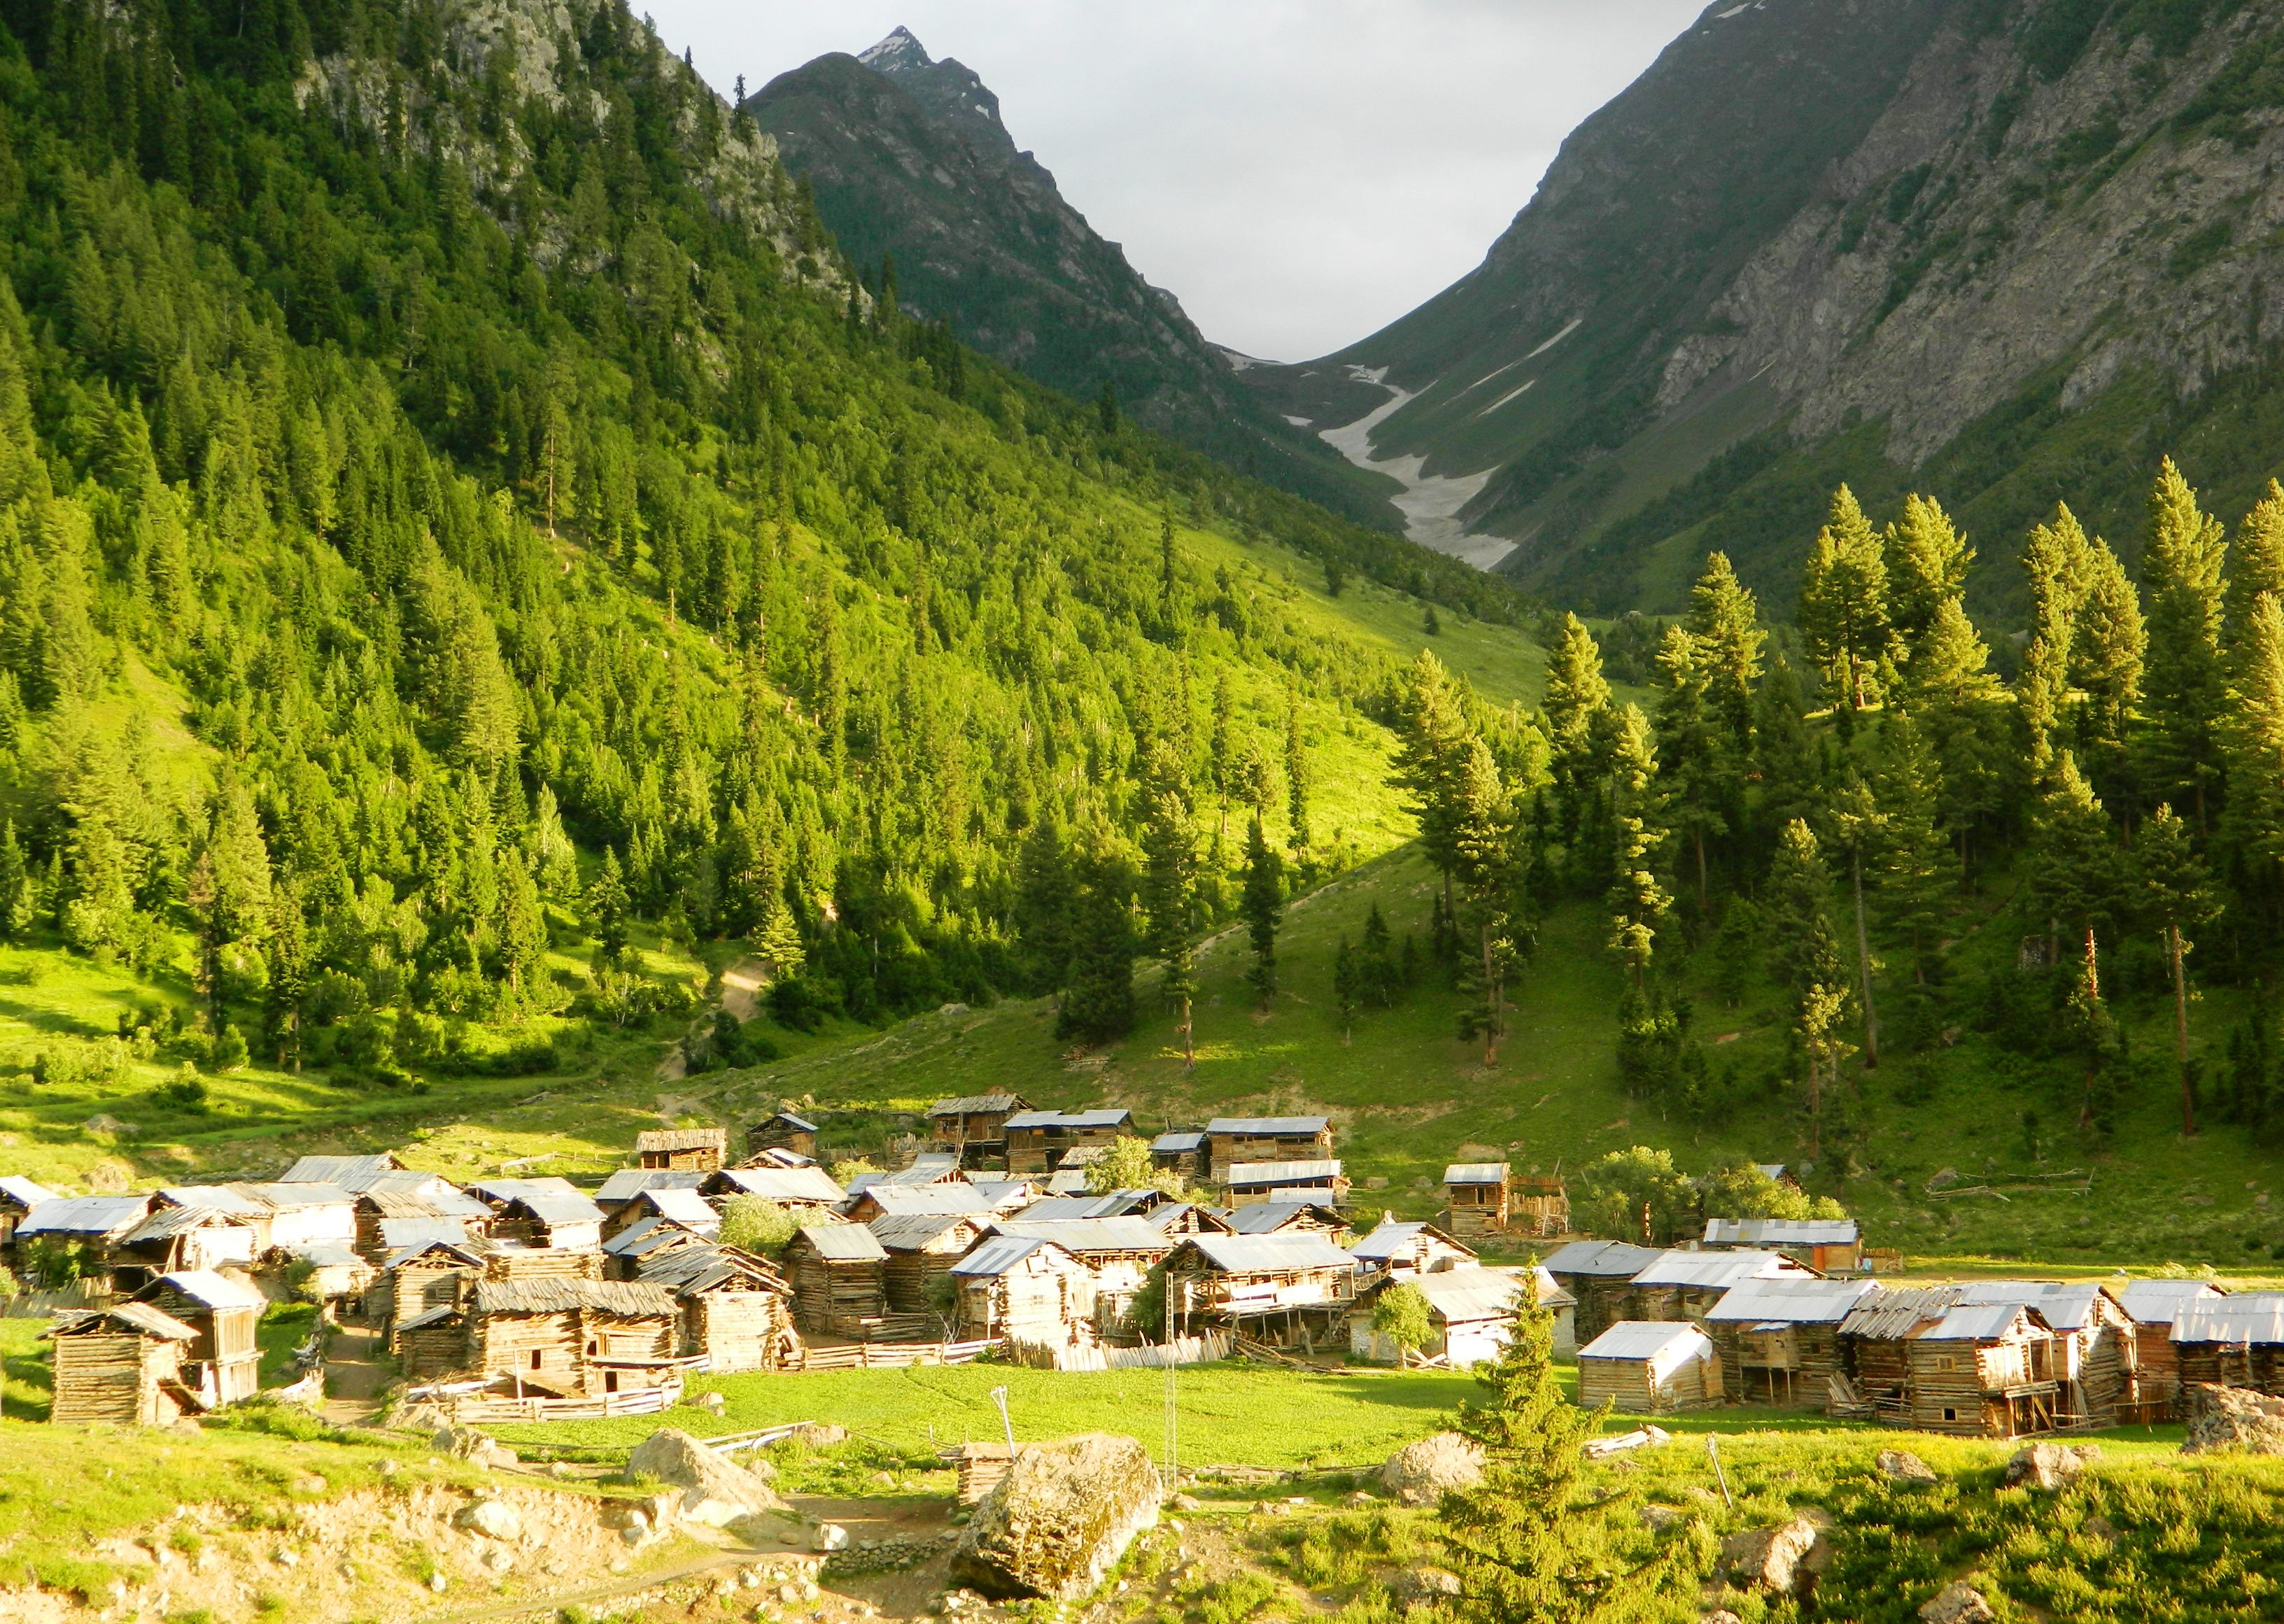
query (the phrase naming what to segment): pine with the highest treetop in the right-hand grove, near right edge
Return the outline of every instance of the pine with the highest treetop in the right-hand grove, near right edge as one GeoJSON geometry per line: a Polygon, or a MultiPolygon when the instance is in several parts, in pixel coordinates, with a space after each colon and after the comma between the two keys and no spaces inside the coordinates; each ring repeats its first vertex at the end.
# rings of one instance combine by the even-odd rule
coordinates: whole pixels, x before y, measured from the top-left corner
{"type": "Polygon", "coordinates": [[[2195,809],[2199,831],[2218,786],[2213,735],[2225,697],[2220,610],[2227,550],[2220,521],[2197,507],[2197,493],[2168,457],[2149,491],[2149,544],[2142,548],[2149,582],[2142,783],[2152,797],[2195,809]]]}

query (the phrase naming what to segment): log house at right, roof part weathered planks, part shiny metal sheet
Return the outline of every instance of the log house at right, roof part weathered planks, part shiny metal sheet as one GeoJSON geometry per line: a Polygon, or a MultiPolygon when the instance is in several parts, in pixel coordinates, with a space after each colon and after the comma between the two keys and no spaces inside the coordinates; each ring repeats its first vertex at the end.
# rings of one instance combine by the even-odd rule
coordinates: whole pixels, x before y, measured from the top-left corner
{"type": "Polygon", "coordinates": [[[2065,1350],[2028,1304],[1962,1304],[1960,1286],[1873,1288],[1841,1320],[1852,1380],[1832,1414],[1955,1437],[2021,1437],[2067,1421],[2065,1350]]]}

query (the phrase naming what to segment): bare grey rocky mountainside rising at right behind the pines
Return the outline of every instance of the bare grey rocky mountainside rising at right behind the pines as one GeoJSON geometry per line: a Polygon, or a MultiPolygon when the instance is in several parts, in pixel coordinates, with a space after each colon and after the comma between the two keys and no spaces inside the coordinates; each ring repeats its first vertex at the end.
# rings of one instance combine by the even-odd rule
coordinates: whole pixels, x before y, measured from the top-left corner
{"type": "Polygon", "coordinates": [[[1313,370],[1389,368],[1375,450],[1487,473],[1503,569],[1603,608],[1672,608],[1706,544],[1788,601],[1829,477],[2131,544],[2158,450],[2266,477],[2279,160],[2275,7],[1724,0],[1480,270],[1313,370]]]}

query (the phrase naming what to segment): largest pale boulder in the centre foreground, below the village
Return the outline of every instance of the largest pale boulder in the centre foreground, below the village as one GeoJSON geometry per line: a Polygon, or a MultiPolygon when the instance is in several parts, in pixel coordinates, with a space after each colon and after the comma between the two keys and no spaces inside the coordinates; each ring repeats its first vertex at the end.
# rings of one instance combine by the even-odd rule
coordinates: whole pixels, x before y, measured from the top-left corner
{"type": "Polygon", "coordinates": [[[1076,1601],[1158,1521],[1163,1496],[1135,1439],[1028,1444],[952,1546],[952,1581],[987,1597],[1076,1601]]]}

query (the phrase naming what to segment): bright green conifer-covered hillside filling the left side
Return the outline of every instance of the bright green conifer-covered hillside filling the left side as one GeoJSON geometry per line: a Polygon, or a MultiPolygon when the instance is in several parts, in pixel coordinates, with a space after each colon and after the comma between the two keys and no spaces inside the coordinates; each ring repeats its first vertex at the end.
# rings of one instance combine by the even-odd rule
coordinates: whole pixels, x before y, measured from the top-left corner
{"type": "Polygon", "coordinates": [[[1517,614],[895,317],[619,5],[0,23],[0,934],[144,989],[18,996],[32,1099],[550,1071],[726,936],[795,1026],[1060,987],[1149,749],[1398,836],[1290,827],[1400,669],[1293,560],[1517,614]]]}

